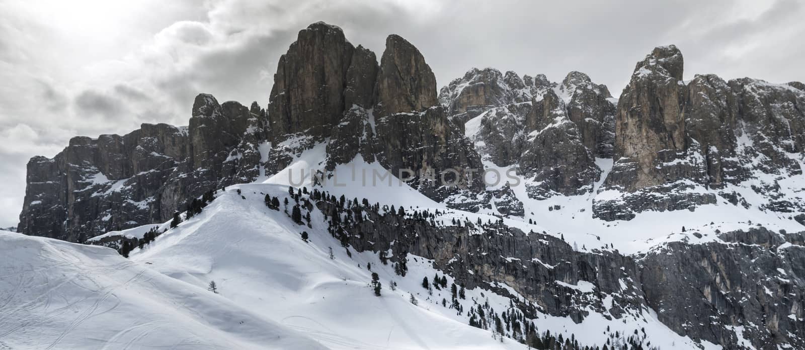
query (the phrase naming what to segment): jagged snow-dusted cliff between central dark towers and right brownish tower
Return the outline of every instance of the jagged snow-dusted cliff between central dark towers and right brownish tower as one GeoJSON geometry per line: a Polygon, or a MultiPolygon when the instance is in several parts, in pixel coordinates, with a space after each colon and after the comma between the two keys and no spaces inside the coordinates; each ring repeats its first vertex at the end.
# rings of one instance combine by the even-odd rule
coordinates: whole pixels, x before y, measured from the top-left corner
{"type": "Polygon", "coordinates": [[[498,167],[517,167],[528,196],[574,196],[592,191],[611,157],[615,106],[605,86],[570,72],[562,84],[544,75],[503,75],[472,69],[440,93],[452,118],[467,122],[465,134],[481,156],[498,167]]]}

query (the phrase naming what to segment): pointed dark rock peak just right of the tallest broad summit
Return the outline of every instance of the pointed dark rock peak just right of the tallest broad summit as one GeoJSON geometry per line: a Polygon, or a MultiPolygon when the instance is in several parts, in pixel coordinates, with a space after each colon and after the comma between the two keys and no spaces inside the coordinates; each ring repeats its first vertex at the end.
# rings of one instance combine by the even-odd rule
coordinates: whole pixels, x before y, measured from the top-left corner
{"type": "Polygon", "coordinates": [[[399,35],[386,38],[375,84],[375,113],[423,111],[438,105],[436,76],[422,53],[399,35]]]}

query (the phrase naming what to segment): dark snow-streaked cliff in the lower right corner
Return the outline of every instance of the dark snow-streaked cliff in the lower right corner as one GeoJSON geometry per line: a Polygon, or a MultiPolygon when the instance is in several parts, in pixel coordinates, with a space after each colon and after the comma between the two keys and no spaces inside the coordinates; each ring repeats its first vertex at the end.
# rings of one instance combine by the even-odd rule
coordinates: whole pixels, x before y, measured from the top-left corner
{"type": "Polygon", "coordinates": [[[646,302],[679,334],[735,348],[805,346],[802,233],[757,228],[638,257],[646,302]],[[708,319],[706,323],[696,320],[708,319]],[[742,339],[739,338],[742,336],[742,339]]]}

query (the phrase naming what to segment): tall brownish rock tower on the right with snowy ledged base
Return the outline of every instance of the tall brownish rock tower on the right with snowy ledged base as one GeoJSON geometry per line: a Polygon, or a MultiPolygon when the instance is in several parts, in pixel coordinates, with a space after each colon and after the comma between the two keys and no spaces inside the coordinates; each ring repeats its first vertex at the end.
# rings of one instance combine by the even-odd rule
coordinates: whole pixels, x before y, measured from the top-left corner
{"type": "Polygon", "coordinates": [[[687,87],[682,52],[657,47],[638,62],[618,99],[615,163],[593,212],[605,220],[629,220],[643,210],[693,209],[716,203],[701,191],[707,183],[704,156],[685,132],[687,87]]]}

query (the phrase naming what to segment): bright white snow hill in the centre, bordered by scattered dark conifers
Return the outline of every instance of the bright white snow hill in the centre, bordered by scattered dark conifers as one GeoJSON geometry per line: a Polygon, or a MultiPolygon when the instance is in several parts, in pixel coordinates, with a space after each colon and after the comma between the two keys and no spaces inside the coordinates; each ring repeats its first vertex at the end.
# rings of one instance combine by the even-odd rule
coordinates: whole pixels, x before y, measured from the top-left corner
{"type": "MultiPolygon", "coordinates": [[[[428,261],[411,257],[401,278],[377,254],[351,249],[349,257],[324,229],[320,212],[313,211],[312,229],[295,224],[283,205],[278,212],[263,204],[266,193],[282,198],[287,187],[246,184],[219,191],[204,212],[135,249],[131,259],[196,286],[215,281],[223,297],[329,348],[524,348],[514,340],[501,344],[489,331],[470,327],[466,316],[442,307],[448,290],[428,295],[422,278],[437,273],[428,261]],[[300,238],[302,231],[310,234],[309,242],[300,238]],[[380,275],[379,298],[368,286],[367,263],[380,275]],[[392,280],[396,290],[388,288],[392,280]],[[419,305],[409,302],[410,293],[419,305]]],[[[468,302],[473,295],[468,291],[468,302]]]]}

